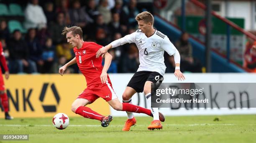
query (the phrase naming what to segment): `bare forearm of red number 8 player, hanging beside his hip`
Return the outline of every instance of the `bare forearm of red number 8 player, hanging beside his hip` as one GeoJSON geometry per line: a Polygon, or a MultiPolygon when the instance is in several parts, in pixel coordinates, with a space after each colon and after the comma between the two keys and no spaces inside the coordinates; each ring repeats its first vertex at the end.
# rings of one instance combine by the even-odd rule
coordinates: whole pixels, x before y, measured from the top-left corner
{"type": "Polygon", "coordinates": [[[105,63],[104,63],[104,66],[103,66],[103,69],[102,69],[102,73],[100,75],[100,80],[101,80],[101,83],[105,84],[106,81],[108,81],[108,74],[107,74],[107,71],[108,71],[108,68],[110,67],[110,64],[111,64],[111,61],[112,61],[112,56],[111,54],[109,54],[108,52],[106,52],[105,54],[105,63]]]}

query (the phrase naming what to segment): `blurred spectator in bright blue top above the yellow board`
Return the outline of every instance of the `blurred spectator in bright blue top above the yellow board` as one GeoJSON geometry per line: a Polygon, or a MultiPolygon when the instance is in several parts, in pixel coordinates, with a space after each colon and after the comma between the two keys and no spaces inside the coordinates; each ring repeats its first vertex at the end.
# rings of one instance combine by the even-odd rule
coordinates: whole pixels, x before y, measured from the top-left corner
{"type": "Polygon", "coordinates": [[[52,66],[54,64],[54,55],[55,55],[55,48],[52,45],[51,38],[48,38],[46,40],[44,51],[42,54],[42,59],[44,60],[44,68],[42,70],[42,73],[50,73],[52,66]]]}

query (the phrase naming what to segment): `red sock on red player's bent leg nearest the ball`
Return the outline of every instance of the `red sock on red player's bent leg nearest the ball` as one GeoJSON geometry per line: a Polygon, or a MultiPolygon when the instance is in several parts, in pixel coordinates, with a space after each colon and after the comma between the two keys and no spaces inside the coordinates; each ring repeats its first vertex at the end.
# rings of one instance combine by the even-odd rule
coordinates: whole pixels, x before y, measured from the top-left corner
{"type": "Polygon", "coordinates": [[[76,110],[76,113],[83,116],[84,118],[90,118],[90,119],[95,119],[99,121],[102,121],[102,118],[105,117],[95,111],[92,111],[92,109],[85,106],[78,107],[76,110]]]}

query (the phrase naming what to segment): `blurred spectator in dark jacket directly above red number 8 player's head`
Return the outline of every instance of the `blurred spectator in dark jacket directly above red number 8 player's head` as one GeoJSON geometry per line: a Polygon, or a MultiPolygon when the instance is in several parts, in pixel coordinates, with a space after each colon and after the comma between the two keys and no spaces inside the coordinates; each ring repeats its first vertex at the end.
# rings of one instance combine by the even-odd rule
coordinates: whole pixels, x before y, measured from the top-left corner
{"type": "Polygon", "coordinates": [[[84,28],[87,23],[92,23],[93,20],[85,12],[85,7],[81,7],[79,0],[73,2],[73,8],[69,10],[69,16],[72,24],[84,28]]]}

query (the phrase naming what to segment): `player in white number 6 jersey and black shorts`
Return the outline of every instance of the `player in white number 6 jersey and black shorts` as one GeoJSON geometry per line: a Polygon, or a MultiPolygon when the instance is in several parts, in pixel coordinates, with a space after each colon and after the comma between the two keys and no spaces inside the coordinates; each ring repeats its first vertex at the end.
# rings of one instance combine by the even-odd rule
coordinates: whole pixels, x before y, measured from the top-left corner
{"type": "MultiPolygon", "coordinates": [[[[164,51],[174,56],[176,65],[174,75],[179,80],[184,80],[185,77],[182,72],[180,72],[180,55],[178,50],[166,35],[153,28],[153,15],[151,15],[150,12],[141,12],[135,19],[138,22],[140,30],[102,47],[98,50],[96,57],[105,54],[110,48],[118,47],[126,43],[135,43],[139,50],[140,65],[123,93],[123,102],[131,103],[133,94],[143,91],[147,98],[148,105],[151,106],[151,83],[154,83],[156,85],[155,88],[158,88],[164,79],[163,76],[166,69],[164,64],[164,51]]],[[[148,129],[161,129],[162,125],[160,121],[164,121],[164,116],[158,112],[158,108],[151,108],[151,112],[154,115],[154,120],[148,126],[148,129]]],[[[133,113],[127,112],[127,114],[128,120],[125,123],[123,131],[129,131],[131,126],[136,123],[133,113]]]]}

